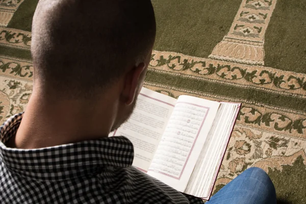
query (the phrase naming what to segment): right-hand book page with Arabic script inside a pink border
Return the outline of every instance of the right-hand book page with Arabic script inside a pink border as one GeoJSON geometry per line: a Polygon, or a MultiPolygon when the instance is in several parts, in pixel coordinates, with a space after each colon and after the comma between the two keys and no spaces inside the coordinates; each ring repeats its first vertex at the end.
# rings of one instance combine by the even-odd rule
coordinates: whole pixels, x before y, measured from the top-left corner
{"type": "Polygon", "coordinates": [[[184,192],[219,106],[180,96],[147,173],[184,192]]]}

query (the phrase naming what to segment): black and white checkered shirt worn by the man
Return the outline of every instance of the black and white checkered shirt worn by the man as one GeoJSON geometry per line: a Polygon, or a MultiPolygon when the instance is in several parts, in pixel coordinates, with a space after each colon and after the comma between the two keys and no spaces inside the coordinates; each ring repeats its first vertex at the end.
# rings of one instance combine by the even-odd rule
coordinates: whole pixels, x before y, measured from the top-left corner
{"type": "Polygon", "coordinates": [[[0,127],[1,203],[203,203],[134,168],[125,137],[8,148],[22,114],[0,127]]]}

